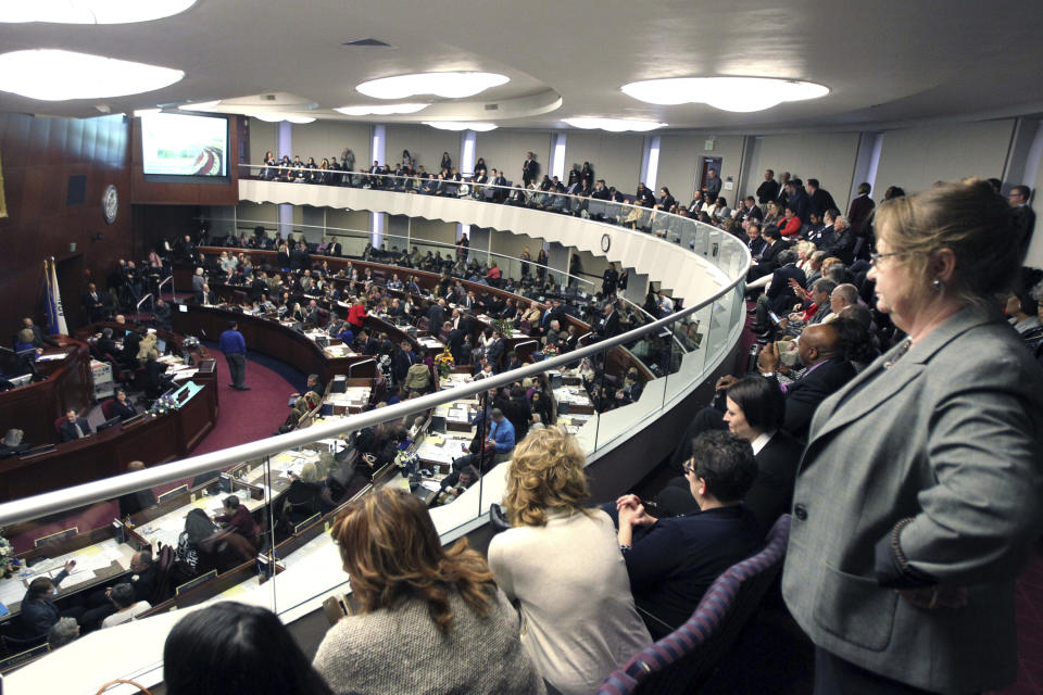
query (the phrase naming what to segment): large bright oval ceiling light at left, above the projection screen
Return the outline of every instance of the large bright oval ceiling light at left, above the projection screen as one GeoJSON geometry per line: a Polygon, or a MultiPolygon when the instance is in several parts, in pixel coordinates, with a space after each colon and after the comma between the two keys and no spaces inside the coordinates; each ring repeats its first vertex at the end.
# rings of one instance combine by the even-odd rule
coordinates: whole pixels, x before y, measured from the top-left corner
{"type": "Polygon", "coordinates": [[[0,55],[0,91],[43,101],[138,94],[184,77],[179,70],[56,49],[0,55]]]}

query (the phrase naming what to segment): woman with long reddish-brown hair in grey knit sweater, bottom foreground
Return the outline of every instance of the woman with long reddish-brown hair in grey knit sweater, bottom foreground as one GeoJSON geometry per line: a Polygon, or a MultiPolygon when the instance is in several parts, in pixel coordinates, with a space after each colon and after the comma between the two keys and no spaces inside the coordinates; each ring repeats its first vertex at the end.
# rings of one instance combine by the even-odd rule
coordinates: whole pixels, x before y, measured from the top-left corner
{"type": "Polygon", "coordinates": [[[350,504],[331,535],[361,606],[315,655],[335,692],[544,692],[489,566],[466,540],[444,549],[417,497],[381,488],[350,504]]]}

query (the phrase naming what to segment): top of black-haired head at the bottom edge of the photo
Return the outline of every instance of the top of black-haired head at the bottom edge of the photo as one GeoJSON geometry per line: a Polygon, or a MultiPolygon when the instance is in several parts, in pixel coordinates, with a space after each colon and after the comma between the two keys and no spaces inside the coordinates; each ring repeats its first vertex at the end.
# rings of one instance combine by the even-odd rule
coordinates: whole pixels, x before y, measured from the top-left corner
{"type": "Polygon", "coordinates": [[[163,680],[168,695],[332,695],[275,614],[233,602],[174,626],[163,680]]]}

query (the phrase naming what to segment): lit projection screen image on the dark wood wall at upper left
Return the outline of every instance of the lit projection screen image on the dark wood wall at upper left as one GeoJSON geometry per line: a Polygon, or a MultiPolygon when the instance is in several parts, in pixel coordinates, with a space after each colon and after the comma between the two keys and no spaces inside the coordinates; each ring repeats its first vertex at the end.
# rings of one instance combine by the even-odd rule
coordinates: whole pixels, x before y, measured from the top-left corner
{"type": "Polygon", "coordinates": [[[226,176],[228,122],[211,116],[155,113],[141,116],[146,174],[226,176]]]}

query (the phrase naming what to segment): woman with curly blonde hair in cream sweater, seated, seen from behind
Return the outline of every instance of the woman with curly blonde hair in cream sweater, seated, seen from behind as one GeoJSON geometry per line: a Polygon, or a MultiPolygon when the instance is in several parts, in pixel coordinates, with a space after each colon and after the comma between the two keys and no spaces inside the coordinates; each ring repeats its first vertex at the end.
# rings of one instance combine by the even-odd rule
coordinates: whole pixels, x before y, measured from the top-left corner
{"type": "Polygon", "coordinates": [[[489,545],[497,582],[519,608],[522,643],[551,685],[592,693],[652,639],[638,616],[607,514],[590,494],[583,453],[561,429],[517,445],[504,495],[514,528],[489,545]]]}

